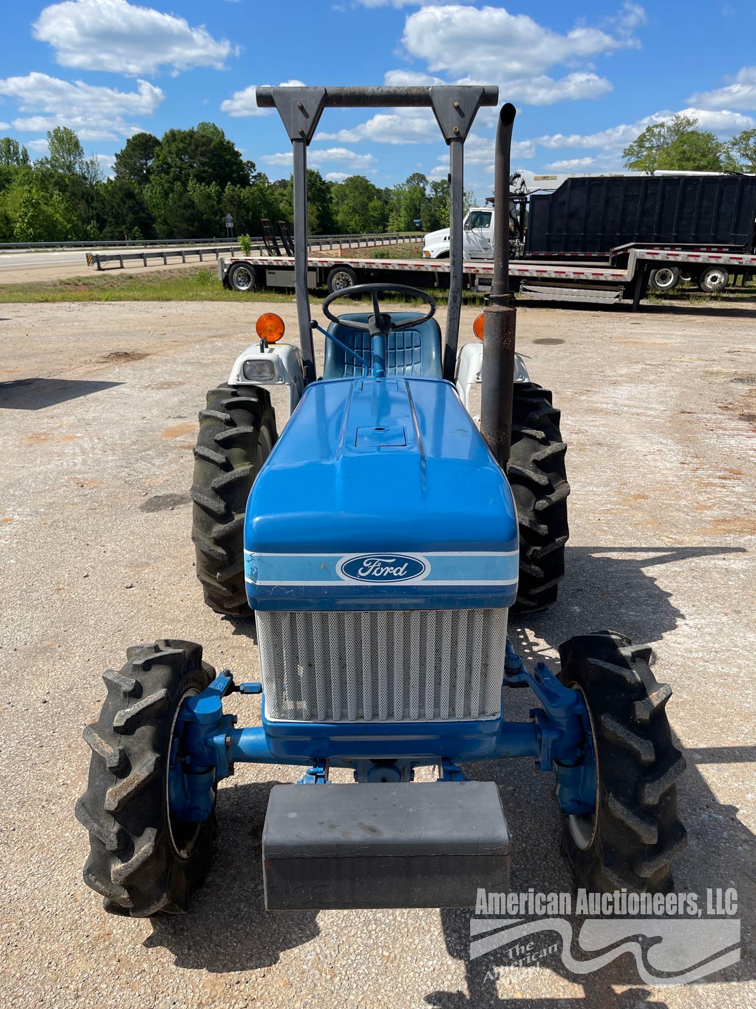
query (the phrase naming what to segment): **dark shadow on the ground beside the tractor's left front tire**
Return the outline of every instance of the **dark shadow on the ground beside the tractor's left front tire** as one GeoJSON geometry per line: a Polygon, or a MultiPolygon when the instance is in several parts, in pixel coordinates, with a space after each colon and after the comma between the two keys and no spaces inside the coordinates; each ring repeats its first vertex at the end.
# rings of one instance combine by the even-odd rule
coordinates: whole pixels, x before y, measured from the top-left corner
{"type": "MultiPolygon", "coordinates": [[[[262,827],[276,784],[219,789],[219,834],[208,876],[192,899],[190,914],[151,919],[145,946],[169,949],[178,968],[229,974],[270,967],[282,950],[320,935],[314,911],[265,910],[262,827]]],[[[247,994],[246,987],[241,994],[247,994]]]]}

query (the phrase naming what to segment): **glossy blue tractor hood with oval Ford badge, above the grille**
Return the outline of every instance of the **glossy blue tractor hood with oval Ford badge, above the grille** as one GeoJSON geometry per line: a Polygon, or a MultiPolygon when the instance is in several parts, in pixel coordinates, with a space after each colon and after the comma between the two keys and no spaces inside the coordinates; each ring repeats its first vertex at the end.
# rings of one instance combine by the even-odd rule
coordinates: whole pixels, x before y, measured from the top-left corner
{"type": "Polygon", "coordinates": [[[257,476],[244,530],[254,609],[498,608],[517,519],[454,386],[310,384],[257,476]]]}

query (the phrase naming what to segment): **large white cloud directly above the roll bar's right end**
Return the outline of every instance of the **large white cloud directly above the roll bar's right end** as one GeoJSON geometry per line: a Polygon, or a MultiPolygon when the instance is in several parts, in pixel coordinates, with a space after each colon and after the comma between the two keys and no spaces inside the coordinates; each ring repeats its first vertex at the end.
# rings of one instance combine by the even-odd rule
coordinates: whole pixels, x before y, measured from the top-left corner
{"type": "Polygon", "coordinates": [[[637,46],[630,23],[624,22],[616,34],[576,25],[562,35],[503,7],[423,7],[406,19],[402,41],[430,71],[512,81],[637,46]]]}

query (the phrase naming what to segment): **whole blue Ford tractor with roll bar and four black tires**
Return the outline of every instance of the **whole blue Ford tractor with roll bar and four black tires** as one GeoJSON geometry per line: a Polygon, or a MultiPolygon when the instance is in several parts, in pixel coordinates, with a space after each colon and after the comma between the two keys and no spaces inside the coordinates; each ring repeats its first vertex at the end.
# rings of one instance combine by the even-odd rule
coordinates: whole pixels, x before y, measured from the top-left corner
{"type": "MultiPolygon", "coordinates": [[[[194,540],[207,602],[254,613],[261,682],[216,673],[200,645],[127,650],[84,738],[89,830],[84,876],[108,911],[187,909],[216,832],[218,783],[241,762],[301,768],[275,785],[263,830],[268,909],[471,906],[502,892],[510,839],[492,782],[470,761],[533,757],[552,774],[563,850],[590,891],[667,892],[684,845],[668,686],[648,648],[614,632],[559,648],[560,674],[527,670],[507,638],[509,610],[555,598],[568,537],[564,450],[550,394],[515,353],[506,218],[482,343],[458,354],[463,159],[479,86],[261,88],[293,148],[299,346],[280,320],[208,397],[195,450],[194,540]],[[306,152],[326,107],[429,107],[450,148],[451,257],[446,336],[435,302],[367,284],[370,311],[338,316],[337,291],[307,296],[306,152]],[[382,296],[420,301],[391,312],[382,296]],[[326,336],[316,371],[313,330],[326,336]],[[470,416],[480,380],[481,427],[470,416]],[[278,436],[269,388],[285,385],[278,436]],[[474,519],[471,521],[471,517],[474,519]],[[537,706],[505,719],[511,687],[537,706]],[[224,712],[232,691],[260,695],[261,725],[224,712]],[[415,782],[416,768],[435,781],[415,782]],[[335,784],[346,768],[354,784],[335,784]],[[439,787],[440,786],[440,787],[439,787]]],[[[514,108],[499,113],[495,199],[509,190],[514,108]]],[[[249,703],[256,703],[250,698],[249,703]]]]}

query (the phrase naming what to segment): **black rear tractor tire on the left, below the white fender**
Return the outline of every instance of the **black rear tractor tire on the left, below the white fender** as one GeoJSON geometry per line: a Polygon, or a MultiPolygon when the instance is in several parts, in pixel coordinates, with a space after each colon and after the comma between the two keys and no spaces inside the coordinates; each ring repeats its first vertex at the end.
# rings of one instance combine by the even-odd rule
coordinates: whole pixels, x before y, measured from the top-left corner
{"type": "Polygon", "coordinates": [[[192,539],[205,601],[217,613],[252,613],[244,584],[244,513],[277,437],[267,389],[221,385],[208,393],[195,446],[192,539]]]}

